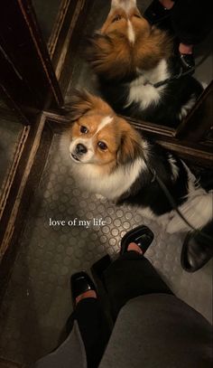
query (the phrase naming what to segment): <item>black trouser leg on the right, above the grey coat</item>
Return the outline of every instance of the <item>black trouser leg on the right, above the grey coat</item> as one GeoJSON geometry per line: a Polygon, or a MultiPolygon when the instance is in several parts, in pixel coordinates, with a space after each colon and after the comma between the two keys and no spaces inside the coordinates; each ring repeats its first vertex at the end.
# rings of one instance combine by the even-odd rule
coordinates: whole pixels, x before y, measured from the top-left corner
{"type": "Polygon", "coordinates": [[[103,273],[103,281],[114,319],[125,303],[145,294],[172,294],[152,264],[135,251],[116,259],[103,273]]]}

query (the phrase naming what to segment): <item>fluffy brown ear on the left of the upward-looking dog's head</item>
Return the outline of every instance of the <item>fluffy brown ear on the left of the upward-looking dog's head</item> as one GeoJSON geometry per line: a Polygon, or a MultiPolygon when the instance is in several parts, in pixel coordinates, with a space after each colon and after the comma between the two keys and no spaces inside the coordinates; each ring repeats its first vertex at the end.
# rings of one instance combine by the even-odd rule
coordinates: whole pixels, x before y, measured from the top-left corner
{"type": "Polygon", "coordinates": [[[70,121],[76,121],[92,109],[112,112],[105,101],[92,95],[87,90],[74,90],[64,110],[70,121]]]}

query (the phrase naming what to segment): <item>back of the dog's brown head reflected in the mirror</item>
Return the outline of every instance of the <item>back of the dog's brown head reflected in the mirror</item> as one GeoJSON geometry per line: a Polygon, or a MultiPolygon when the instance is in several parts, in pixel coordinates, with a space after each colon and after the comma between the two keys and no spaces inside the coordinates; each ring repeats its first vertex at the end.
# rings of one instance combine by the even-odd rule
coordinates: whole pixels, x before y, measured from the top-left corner
{"type": "Polygon", "coordinates": [[[144,19],[135,0],[112,0],[105,24],[89,40],[86,58],[97,74],[120,80],[153,69],[170,52],[167,34],[144,19]]]}

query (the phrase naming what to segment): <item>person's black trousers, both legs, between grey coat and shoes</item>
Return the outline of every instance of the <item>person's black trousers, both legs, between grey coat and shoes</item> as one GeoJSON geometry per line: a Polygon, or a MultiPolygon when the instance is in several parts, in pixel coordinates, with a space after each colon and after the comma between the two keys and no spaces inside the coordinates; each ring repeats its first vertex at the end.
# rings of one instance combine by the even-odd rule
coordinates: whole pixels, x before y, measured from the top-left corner
{"type": "MultiPolygon", "coordinates": [[[[116,259],[104,271],[103,281],[114,321],[120,309],[133,297],[153,293],[172,294],[149,260],[135,251],[128,251],[116,259]]],[[[78,321],[85,345],[88,368],[95,368],[110,336],[99,301],[95,298],[81,300],[71,315],[71,322],[74,319],[78,321]]]]}

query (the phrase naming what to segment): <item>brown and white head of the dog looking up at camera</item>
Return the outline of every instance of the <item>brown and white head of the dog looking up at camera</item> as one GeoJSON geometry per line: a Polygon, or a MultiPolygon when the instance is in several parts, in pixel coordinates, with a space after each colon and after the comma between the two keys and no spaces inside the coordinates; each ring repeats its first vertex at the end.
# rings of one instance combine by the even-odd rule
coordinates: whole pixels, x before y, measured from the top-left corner
{"type": "Polygon", "coordinates": [[[73,123],[66,135],[69,156],[76,164],[92,164],[111,172],[141,155],[141,137],[105,101],[86,91],[76,91],[68,117],[73,123]]]}

